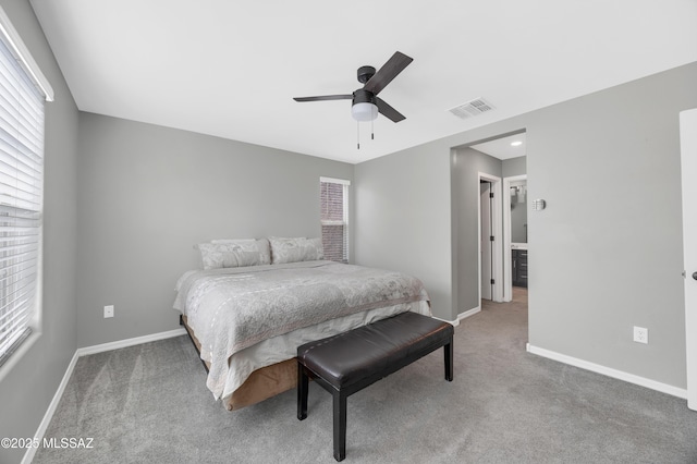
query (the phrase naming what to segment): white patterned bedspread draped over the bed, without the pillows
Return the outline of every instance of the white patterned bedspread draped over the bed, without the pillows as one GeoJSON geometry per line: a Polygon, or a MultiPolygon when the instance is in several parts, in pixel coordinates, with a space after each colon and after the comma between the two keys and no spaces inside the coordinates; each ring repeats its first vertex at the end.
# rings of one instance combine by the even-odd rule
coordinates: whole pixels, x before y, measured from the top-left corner
{"type": "Polygon", "coordinates": [[[189,271],[176,291],[174,308],[211,365],[207,386],[217,399],[302,343],[406,310],[430,314],[418,279],[332,261],[189,271]]]}

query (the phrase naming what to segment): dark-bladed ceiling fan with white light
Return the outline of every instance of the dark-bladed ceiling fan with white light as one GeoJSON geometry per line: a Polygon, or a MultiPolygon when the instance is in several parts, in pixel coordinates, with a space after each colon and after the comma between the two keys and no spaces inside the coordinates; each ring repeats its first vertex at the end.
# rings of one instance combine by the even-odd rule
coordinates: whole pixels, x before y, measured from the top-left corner
{"type": "Polygon", "coordinates": [[[396,51],[377,72],[372,66],[358,68],[358,82],[365,85],[353,94],[295,97],[293,99],[295,101],[352,100],[351,114],[356,121],[372,121],[380,112],[389,120],[400,122],[406,118],[379,98],[378,94],[412,61],[414,59],[396,51]]]}

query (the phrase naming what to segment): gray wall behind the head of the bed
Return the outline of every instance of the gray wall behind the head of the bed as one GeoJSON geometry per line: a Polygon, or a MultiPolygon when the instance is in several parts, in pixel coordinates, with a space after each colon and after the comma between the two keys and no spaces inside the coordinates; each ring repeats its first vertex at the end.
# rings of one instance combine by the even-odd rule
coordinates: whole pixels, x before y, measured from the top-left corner
{"type": "Polygon", "coordinates": [[[353,180],[352,164],[91,113],[78,157],[78,346],[178,328],[194,244],[319,236],[319,178],[353,180]]]}

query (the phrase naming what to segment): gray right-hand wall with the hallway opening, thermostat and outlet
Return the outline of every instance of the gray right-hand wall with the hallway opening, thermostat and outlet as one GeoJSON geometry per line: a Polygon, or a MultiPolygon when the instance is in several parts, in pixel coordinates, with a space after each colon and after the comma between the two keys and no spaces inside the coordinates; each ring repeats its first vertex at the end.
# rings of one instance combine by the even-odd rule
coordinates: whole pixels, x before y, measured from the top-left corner
{"type": "Polygon", "coordinates": [[[677,114],[697,107],[695,82],[692,63],[359,164],[356,184],[370,194],[358,197],[357,259],[376,266],[408,261],[415,273],[432,276],[442,305],[435,312],[454,319],[457,276],[447,252],[447,216],[455,221],[456,208],[444,187],[445,158],[451,147],[526,130],[528,194],[548,203],[528,218],[529,342],[685,388],[677,114]],[[568,187],[590,179],[603,187],[568,187]],[[372,197],[419,211],[364,208],[362,200],[372,197]],[[389,242],[398,242],[387,247],[399,258],[370,257],[389,242]],[[436,252],[428,264],[405,257],[426,249],[436,252]],[[452,281],[440,280],[448,276],[452,281]],[[648,345],[632,341],[635,325],[649,329],[648,345]]]}

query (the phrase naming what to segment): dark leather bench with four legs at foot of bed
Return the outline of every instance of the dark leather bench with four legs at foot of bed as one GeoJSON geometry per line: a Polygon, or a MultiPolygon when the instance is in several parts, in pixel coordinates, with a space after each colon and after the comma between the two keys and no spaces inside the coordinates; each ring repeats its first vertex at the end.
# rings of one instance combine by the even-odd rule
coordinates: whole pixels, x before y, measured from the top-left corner
{"type": "Polygon", "coordinates": [[[308,380],[333,396],[334,459],[346,456],[346,398],[443,346],[445,380],[453,379],[453,326],[402,313],[297,347],[297,418],[307,417],[308,380]]]}

